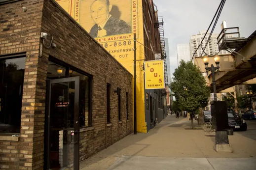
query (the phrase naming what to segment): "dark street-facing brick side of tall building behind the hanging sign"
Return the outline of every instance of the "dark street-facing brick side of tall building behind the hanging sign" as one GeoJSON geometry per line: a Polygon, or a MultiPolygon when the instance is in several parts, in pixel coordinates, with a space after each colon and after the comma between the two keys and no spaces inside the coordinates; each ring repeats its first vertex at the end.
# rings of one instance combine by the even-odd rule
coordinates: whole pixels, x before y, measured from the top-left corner
{"type": "MultiPolygon", "coordinates": [[[[158,16],[157,6],[153,0],[142,1],[145,60],[164,59],[166,62],[163,19],[158,16]]],[[[167,72],[167,67],[164,69],[167,72]]],[[[165,79],[167,79],[167,73],[165,79]]],[[[167,94],[168,81],[165,81],[166,89],[145,90],[147,130],[153,128],[167,116],[166,96],[169,94],[167,94]]]]}

